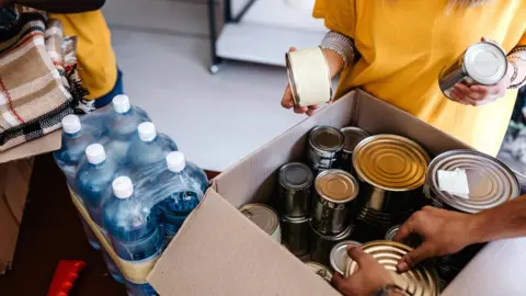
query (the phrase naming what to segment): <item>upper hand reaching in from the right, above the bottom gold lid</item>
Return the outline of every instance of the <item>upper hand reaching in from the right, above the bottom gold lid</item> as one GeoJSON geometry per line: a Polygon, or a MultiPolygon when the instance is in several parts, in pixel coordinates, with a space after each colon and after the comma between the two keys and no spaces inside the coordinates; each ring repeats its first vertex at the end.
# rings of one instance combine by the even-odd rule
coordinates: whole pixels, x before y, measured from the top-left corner
{"type": "Polygon", "coordinates": [[[419,235],[423,242],[407,253],[399,262],[399,272],[405,272],[421,261],[456,253],[471,244],[474,215],[461,214],[425,206],[414,213],[398,230],[395,241],[403,241],[409,235],[419,235]]]}

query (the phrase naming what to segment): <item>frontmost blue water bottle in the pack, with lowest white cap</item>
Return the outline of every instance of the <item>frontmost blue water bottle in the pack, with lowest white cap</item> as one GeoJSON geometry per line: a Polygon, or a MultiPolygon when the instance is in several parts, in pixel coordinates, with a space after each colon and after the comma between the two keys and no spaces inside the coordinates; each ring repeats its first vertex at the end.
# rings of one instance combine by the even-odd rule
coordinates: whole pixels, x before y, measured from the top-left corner
{"type": "MultiPolygon", "coordinates": [[[[118,177],[112,183],[113,195],[103,205],[103,227],[116,254],[127,261],[156,260],[163,247],[163,236],[149,196],[134,194],[134,184],[128,177],[118,177]]],[[[149,284],[133,284],[125,281],[132,295],[152,295],[149,284]]]]}

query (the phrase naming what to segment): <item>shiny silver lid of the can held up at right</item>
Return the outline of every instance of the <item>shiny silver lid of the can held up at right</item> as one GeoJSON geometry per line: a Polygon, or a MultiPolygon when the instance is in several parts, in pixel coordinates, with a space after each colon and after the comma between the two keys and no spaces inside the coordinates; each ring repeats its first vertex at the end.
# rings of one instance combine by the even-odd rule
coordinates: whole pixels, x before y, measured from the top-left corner
{"type": "Polygon", "coordinates": [[[495,84],[507,71],[506,54],[495,43],[479,42],[471,45],[464,55],[466,72],[477,83],[495,84]]]}

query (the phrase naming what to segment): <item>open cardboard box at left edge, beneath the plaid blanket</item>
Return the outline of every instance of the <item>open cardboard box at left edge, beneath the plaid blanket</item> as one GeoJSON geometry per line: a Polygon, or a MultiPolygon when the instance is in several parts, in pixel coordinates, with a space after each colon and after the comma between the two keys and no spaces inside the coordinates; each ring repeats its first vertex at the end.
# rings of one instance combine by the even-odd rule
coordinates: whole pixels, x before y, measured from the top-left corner
{"type": "Polygon", "coordinates": [[[0,152],[0,275],[12,267],[25,200],[30,191],[33,156],[60,147],[60,132],[0,152]]]}

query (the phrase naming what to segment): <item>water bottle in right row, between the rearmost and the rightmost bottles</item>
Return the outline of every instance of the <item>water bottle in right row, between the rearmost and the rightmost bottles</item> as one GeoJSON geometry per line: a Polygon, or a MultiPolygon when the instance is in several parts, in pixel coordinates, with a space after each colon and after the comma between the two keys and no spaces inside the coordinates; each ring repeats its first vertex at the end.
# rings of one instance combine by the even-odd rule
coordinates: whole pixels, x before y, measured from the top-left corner
{"type": "Polygon", "coordinates": [[[139,124],[137,134],[128,151],[130,167],[136,170],[163,161],[169,152],[178,150],[175,143],[168,136],[158,135],[150,122],[139,124]]]}

